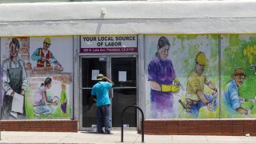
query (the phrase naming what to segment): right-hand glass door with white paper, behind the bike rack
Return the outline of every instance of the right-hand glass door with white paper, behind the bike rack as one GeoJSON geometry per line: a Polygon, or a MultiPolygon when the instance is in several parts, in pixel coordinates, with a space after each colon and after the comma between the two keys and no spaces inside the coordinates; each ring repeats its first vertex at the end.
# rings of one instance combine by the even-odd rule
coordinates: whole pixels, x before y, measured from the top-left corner
{"type": "MultiPolygon", "coordinates": [[[[112,94],[112,126],[120,127],[122,110],[126,106],[136,105],[137,101],[137,59],[136,57],[110,58],[111,78],[114,82],[112,94]]],[[[137,126],[135,108],[129,108],[124,114],[124,124],[129,127],[137,126]]]]}

